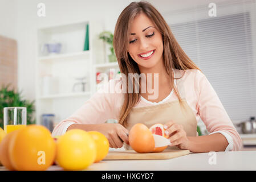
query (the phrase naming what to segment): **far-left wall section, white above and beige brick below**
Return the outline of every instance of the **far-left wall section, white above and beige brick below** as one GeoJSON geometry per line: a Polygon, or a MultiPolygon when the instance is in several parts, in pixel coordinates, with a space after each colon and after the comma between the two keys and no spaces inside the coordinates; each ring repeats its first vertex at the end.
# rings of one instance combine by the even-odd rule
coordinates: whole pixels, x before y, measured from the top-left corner
{"type": "Polygon", "coordinates": [[[11,82],[9,88],[17,88],[16,7],[14,0],[0,1],[0,86],[11,82]]]}

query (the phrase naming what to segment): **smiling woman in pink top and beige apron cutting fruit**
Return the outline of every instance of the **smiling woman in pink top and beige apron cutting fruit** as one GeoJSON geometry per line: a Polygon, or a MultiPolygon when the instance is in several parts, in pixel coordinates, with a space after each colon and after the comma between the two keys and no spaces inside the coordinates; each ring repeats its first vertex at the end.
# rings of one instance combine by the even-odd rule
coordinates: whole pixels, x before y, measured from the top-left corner
{"type": "Polygon", "coordinates": [[[192,152],[240,150],[241,138],[216,92],[150,3],[132,2],[125,7],[116,23],[113,46],[122,79],[109,81],[70,118],[60,122],[52,135],[72,129],[96,130],[108,138],[111,147],[125,144],[126,149],[132,149],[127,133],[135,123],[148,127],[163,123],[172,143],[168,148],[192,152]],[[131,73],[144,77],[135,76],[129,85],[131,73]],[[156,76],[148,77],[150,73],[156,76]],[[110,93],[115,85],[123,92],[110,93]],[[134,92],[136,85],[139,92],[134,92]],[[152,85],[157,93],[145,89],[152,85]],[[119,123],[105,123],[111,118],[119,123]],[[210,135],[198,137],[200,118],[210,135]]]}

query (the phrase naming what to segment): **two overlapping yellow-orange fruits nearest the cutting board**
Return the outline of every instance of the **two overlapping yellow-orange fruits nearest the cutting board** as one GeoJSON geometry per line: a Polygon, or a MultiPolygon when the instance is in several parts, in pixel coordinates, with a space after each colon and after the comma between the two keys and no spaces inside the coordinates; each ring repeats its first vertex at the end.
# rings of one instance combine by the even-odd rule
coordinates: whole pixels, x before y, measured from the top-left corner
{"type": "Polygon", "coordinates": [[[108,139],[97,131],[74,129],[56,142],[56,163],[68,170],[85,169],[108,154],[108,139]]]}

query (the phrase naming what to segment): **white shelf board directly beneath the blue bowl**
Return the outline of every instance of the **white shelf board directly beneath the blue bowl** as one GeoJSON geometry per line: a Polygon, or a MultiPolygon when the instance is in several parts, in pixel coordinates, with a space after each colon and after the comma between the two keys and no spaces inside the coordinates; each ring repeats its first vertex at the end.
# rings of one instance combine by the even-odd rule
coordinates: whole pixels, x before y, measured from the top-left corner
{"type": "Polygon", "coordinates": [[[59,61],[59,60],[78,60],[78,59],[89,59],[90,51],[81,51],[74,53],[63,53],[50,56],[41,56],[39,61],[59,61]]]}

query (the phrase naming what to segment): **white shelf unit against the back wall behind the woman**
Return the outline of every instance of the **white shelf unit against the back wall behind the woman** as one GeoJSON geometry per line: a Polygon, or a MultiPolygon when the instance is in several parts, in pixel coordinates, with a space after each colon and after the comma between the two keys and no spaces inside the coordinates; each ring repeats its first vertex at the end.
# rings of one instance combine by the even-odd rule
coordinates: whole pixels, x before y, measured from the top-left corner
{"type": "Polygon", "coordinates": [[[55,123],[70,117],[95,92],[95,64],[105,62],[105,47],[99,39],[103,31],[101,21],[59,24],[38,29],[36,53],[36,123],[42,114],[55,114],[55,123]],[[89,50],[83,51],[86,25],[89,25],[89,50]],[[42,46],[52,41],[62,44],[59,54],[45,55],[42,46]],[[43,77],[51,78],[51,85],[43,85],[43,77]],[[87,77],[84,92],[73,92],[76,78],[87,77]],[[48,94],[46,94],[48,93],[48,94]]]}

